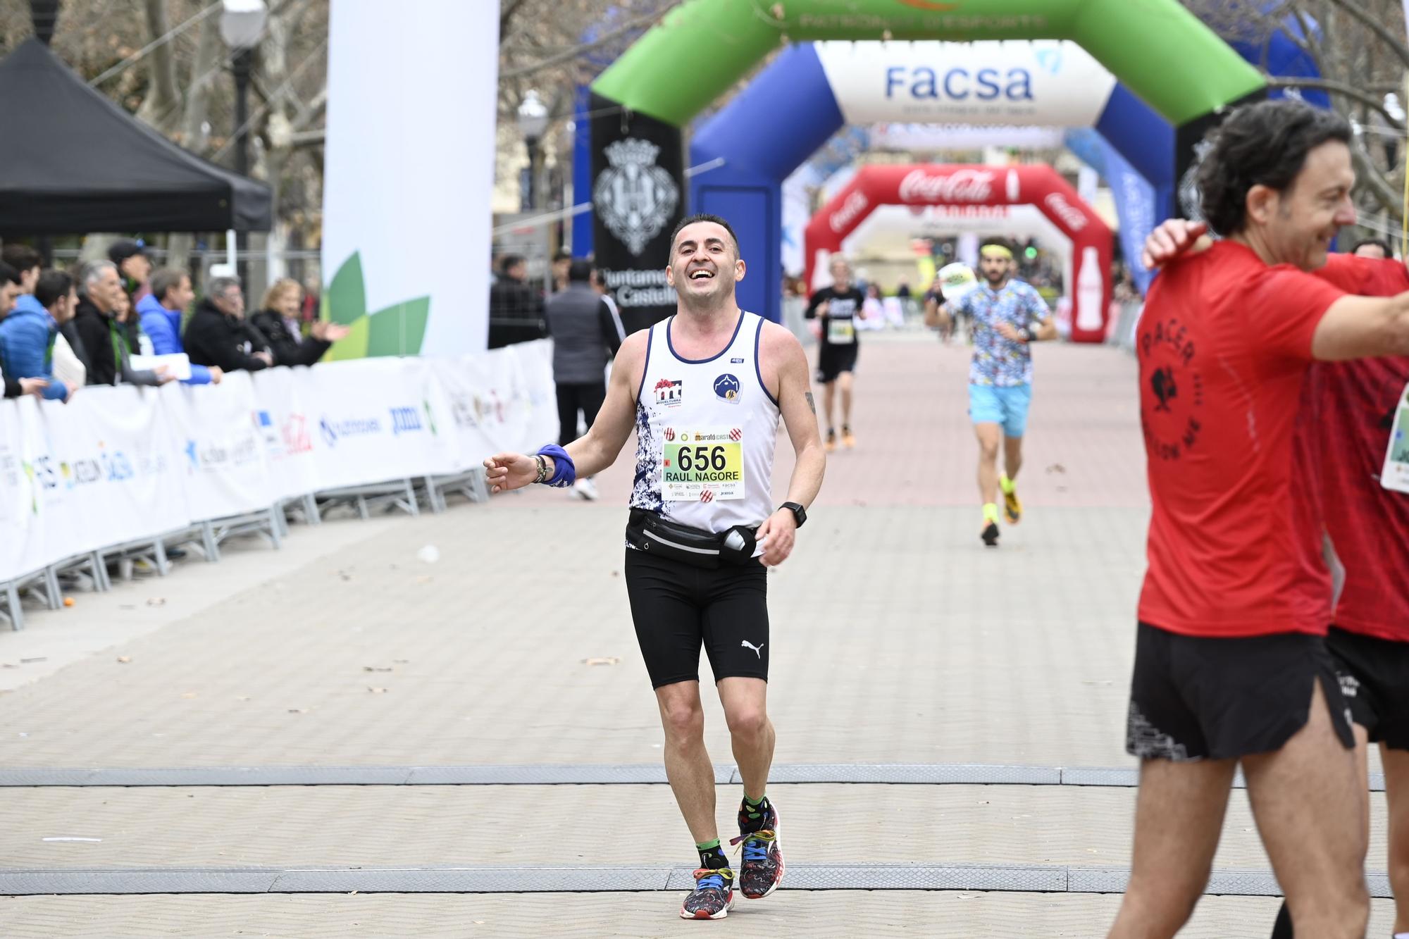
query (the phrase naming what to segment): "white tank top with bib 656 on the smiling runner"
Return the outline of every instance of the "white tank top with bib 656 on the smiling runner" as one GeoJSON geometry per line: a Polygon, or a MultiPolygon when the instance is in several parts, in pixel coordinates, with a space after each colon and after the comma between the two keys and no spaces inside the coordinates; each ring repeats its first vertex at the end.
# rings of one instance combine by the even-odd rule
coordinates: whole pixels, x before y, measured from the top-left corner
{"type": "Polygon", "coordinates": [[[764,385],[764,319],[740,312],[719,355],[688,360],[669,317],[651,327],[635,406],[631,508],[706,532],[757,526],[774,512],[778,402],[764,385]]]}

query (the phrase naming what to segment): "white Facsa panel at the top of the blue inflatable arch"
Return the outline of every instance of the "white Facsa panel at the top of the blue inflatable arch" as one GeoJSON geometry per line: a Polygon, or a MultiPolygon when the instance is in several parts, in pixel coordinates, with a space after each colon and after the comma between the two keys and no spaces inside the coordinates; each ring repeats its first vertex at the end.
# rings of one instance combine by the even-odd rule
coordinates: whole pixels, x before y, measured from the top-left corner
{"type": "Polygon", "coordinates": [[[1091,127],[1116,78],[1065,41],[817,42],[848,124],[1091,127]]]}

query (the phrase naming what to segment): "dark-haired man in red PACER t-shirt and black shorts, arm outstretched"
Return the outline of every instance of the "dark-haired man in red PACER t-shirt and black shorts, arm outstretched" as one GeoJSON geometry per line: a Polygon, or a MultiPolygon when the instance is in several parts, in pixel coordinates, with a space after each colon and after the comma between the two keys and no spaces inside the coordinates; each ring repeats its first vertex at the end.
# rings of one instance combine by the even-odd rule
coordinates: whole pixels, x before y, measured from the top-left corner
{"type": "Polygon", "coordinates": [[[1350,128],[1234,111],[1199,171],[1226,240],[1154,282],[1137,331],[1153,515],[1127,750],[1134,859],[1112,936],[1171,936],[1203,892],[1239,763],[1302,935],[1361,936],[1363,799],[1326,650],[1330,575],[1293,460],[1308,367],[1409,354],[1409,295],[1312,276],[1355,219],[1350,128]]]}

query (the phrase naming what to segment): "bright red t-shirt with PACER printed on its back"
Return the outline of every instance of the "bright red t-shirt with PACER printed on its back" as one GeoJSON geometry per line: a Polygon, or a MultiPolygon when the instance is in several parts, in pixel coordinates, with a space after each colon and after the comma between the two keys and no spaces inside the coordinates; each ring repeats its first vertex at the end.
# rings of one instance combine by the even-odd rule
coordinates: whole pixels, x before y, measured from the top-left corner
{"type": "Polygon", "coordinates": [[[1151,285],[1136,347],[1154,503],[1143,622],[1212,637],[1326,632],[1320,520],[1292,510],[1308,505],[1292,454],[1312,336],[1343,295],[1234,241],[1151,285]]]}

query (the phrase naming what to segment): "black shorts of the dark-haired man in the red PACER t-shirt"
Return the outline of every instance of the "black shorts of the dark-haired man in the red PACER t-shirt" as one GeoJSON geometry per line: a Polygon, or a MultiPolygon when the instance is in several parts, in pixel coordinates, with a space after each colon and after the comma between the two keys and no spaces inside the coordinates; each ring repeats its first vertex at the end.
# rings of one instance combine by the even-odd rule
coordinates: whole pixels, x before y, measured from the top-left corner
{"type": "Polygon", "coordinates": [[[1320,636],[1205,639],[1140,623],[1126,753],[1178,763],[1281,750],[1306,726],[1317,680],[1336,735],[1354,747],[1350,709],[1320,636]]]}

